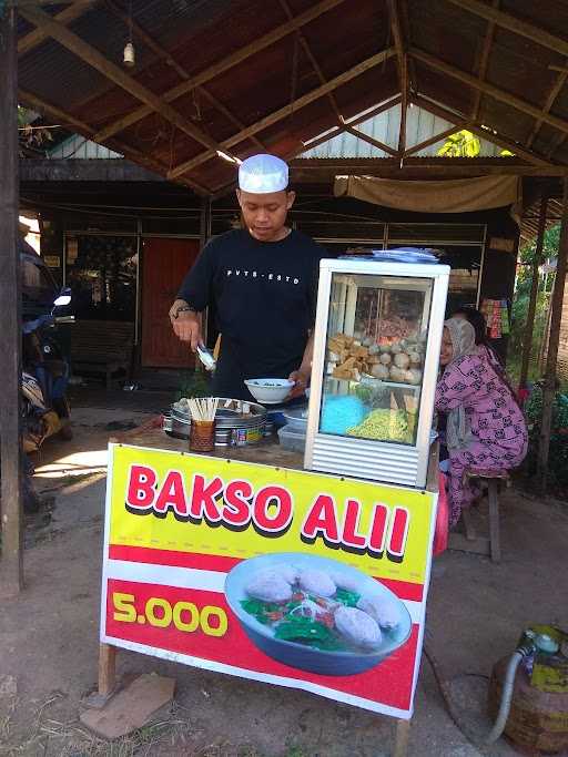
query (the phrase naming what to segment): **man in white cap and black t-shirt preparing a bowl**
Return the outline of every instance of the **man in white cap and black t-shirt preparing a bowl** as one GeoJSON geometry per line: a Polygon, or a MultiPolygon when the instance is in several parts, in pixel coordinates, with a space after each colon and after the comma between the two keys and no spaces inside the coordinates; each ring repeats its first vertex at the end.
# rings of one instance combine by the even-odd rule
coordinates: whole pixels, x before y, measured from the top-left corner
{"type": "Polygon", "coordinates": [[[212,307],[222,334],[213,390],[252,399],[248,378],[291,378],[291,398],[304,393],[312,365],[320,259],[324,250],[286,226],[295,193],[288,167],[254,155],[239,168],[244,228],[212,239],[186,275],[170,309],[173,329],[195,350],[201,316],[212,307]]]}

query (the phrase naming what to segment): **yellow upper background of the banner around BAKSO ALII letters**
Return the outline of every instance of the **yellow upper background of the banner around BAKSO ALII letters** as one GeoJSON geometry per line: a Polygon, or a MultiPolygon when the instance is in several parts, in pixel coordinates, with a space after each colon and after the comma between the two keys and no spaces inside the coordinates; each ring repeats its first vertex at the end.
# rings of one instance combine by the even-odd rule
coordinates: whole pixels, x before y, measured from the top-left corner
{"type": "Polygon", "coordinates": [[[323,473],[128,446],[111,444],[110,457],[112,481],[109,542],[112,545],[174,550],[243,560],[272,552],[302,552],[339,560],[376,577],[420,584],[425,582],[432,549],[433,511],[436,505],[436,495],[430,492],[323,473]],[[265,485],[285,487],[294,498],[292,526],[281,536],[266,538],[257,533],[252,525],[245,531],[234,532],[222,525],[211,528],[206,522],[182,523],[176,521],[171,512],[163,519],[153,514],[131,514],[125,509],[125,499],[132,464],[150,466],[158,473],[159,482],[164,481],[169,471],[178,470],[187,482],[191,482],[194,473],[200,473],[207,480],[219,475],[225,482],[245,479],[255,492],[265,485]],[[339,522],[347,499],[362,502],[359,526],[363,533],[369,525],[375,503],[406,508],[410,513],[410,525],[404,561],[392,562],[386,554],[377,559],[367,554],[351,554],[341,549],[332,550],[322,539],[317,539],[313,545],[305,544],[300,539],[300,530],[308,509],[320,493],[334,497],[339,522]]]}

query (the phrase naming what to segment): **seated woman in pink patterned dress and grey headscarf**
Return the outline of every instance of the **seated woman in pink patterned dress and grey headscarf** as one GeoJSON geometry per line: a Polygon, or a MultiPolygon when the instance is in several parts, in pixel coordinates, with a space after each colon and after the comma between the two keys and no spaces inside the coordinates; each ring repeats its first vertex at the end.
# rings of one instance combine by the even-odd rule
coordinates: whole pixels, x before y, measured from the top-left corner
{"type": "Polygon", "coordinates": [[[447,413],[450,525],[477,493],[464,480],[466,469],[510,470],[528,446],[527,426],[503,372],[475,344],[475,329],[462,318],[444,325],[436,409],[447,413]]]}

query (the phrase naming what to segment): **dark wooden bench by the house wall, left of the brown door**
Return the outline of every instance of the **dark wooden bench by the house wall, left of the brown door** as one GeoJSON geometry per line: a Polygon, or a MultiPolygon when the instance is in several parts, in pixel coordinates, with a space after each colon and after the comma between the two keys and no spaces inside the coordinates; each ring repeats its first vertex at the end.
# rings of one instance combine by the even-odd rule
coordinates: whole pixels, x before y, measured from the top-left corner
{"type": "Polygon", "coordinates": [[[102,376],[106,389],[128,378],[134,349],[134,324],[119,320],[78,320],[71,329],[73,374],[102,376]]]}

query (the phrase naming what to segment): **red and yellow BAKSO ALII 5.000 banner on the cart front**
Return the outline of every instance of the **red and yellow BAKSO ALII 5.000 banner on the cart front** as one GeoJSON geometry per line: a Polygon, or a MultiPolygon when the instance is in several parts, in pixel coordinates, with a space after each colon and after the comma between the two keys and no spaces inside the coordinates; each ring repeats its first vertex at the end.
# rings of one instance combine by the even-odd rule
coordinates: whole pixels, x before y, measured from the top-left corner
{"type": "Polygon", "coordinates": [[[437,495],[110,446],[101,642],[409,718],[437,495]]]}

